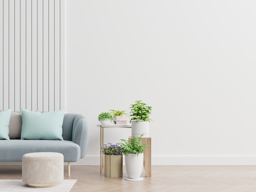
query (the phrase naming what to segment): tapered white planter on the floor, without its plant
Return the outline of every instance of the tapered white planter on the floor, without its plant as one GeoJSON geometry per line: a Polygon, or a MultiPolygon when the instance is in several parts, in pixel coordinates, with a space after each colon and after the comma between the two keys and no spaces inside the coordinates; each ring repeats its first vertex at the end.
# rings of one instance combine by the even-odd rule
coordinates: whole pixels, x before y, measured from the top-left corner
{"type": "Polygon", "coordinates": [[[139,156],[136,154],[128,154],[125,156],[125,165],[126,172],[129,178],[126,180],[142,180],[143,178],[139,177],[143,168],[143,153],[139,153],[139,156]]]}

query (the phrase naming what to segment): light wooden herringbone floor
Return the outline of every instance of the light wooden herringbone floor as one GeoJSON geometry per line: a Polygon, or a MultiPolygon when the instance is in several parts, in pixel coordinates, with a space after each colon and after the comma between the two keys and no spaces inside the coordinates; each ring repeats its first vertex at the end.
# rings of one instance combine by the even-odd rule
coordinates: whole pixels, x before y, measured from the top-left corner
{"type": "MultiPolygon", "coordinates": [[[[256,192],[256,166],[152,166],[152,177],[105,177],[99,166],[71,166],[70,192],[256,192]]],[[[64,166],[64,179],[67,166],[64,166]]],[[[21,166],[0,166],[0,179],[22,179],[21,166]]],[[[1,190],[0,190],[1,191],[1,190]]]]}

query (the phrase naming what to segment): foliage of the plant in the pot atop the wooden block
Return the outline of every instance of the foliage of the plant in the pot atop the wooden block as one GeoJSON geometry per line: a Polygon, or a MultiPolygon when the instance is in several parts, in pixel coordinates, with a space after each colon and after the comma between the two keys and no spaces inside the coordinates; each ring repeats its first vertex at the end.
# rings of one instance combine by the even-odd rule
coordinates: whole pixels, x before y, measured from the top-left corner
{"type": "Polygon", "coordinates": [[[149,115],[151,114],[152,107],[148,106],[146,103],[142,103],[142,100],[136,100],[135,104],[130,105],[131,109],[130,116],[132,117],[130,119],[131,121],[152,121],[152,119],[149,118],[149,115]]]}

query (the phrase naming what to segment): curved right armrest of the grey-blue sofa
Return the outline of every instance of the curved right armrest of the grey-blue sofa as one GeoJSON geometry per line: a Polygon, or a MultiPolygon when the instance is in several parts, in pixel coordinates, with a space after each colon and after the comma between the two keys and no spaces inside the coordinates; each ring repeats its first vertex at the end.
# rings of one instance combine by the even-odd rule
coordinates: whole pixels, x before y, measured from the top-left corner
{"type": "Polygon", "coordinates": [[[72,141],[80,146],[81,158],[85,156],[89,143],[89,122],[81,114],[74,120],[72,141]]]}

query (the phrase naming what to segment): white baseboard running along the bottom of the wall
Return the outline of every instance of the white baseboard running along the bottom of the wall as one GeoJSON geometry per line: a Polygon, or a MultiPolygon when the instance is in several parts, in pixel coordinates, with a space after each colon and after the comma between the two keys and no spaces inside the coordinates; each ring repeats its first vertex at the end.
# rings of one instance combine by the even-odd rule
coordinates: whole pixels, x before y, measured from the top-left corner
{"type": "MultiPolygon", "coordinates": [[[[21,165],[21,162],[0,162],[0,165],[21,165]]],[[[85,156],[71,165],[100,165],[100,158],[85,156]]],[[[152,156],[151,165],[256,165],[256,156],[152,156]]]]}

